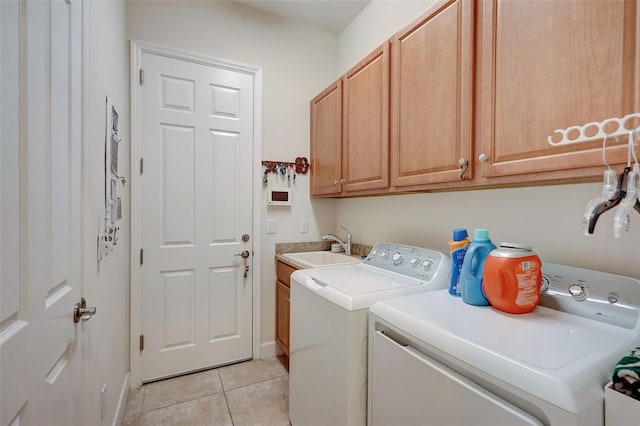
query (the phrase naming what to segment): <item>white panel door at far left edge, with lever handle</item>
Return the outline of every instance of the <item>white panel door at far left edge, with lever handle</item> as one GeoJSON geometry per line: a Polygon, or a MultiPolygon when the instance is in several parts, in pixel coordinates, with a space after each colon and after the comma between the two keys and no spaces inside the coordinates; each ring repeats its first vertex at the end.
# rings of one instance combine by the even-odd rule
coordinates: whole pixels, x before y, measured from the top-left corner
{"type": "Polygon", "coordinates": [[[0,424],[82,424],[82,4],[0,2],[0,424]]]}

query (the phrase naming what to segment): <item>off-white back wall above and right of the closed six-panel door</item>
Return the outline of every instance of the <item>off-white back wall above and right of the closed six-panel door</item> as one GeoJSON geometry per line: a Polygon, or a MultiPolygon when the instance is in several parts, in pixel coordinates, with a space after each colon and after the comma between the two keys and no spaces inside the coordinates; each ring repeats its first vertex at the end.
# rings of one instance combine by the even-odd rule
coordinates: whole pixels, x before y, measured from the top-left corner
{"type": "MultiPolygon", "coordinates": [[[[262,160],[309,157],[309,101],[337,77],[337,36],[225,1],[130,1],[127,38],[227,59],[262,69],[262,160]]],[[[255,179],[261,181],[261,170],[255,179]]],[[[275,184],[275,175],[270,176],[275,184]]],[[[285,183],[285,180],[280,180],[285,183]]],[[[262,214],[261,340],[275,351],[275,243],[311,241],[335,228],[333,200],[309,200],[309,175],[298,176],[291,208],[256,206],[262,214]],[[276,219],[277,233],[266,234],[276,219]],[[301,234],[298,220],[309,219],[301,234]]]]}

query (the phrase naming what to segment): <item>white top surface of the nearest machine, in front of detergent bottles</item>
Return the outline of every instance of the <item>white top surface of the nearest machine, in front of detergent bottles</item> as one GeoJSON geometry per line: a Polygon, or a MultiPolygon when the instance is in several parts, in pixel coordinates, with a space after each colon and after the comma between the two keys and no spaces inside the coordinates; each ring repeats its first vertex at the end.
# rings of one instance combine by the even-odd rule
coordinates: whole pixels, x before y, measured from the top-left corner
{"type": "Polygon", "coordinates": [[[513,315],[447,291],[382,301],[371,313],[433,347],[568,412],[602,401],[630,330],[538,306],[513,315]]]}

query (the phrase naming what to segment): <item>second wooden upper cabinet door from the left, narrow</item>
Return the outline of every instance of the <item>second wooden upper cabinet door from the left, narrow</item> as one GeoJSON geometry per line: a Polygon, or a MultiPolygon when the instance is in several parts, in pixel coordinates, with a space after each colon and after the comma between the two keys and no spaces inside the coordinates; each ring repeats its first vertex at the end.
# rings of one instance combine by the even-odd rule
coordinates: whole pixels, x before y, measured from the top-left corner
{"type": "Polygon", "coordinates": [[[389,43],[343,78],[344,190],[389,187],[389,43]]]}

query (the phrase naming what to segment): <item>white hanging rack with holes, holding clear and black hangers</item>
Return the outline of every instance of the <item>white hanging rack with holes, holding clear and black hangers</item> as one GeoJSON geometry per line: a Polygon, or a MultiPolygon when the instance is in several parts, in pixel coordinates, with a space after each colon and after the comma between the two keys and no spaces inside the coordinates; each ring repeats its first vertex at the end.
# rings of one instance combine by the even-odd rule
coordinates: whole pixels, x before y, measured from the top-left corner
{"type": "Polygon", "coordinates": [[[633,120],[640,121],[640,113],[625,115],[622,118],[608,118],[601,122],[587,123],[582,126],[571,126],[566,129],[555,130],[560,133],[562,139],[559,142],[553,142],[553,136],[549,136],[548,142],[553,146],[569,145],[582,142],[591,142],[602,139],[602,162],[607,167],[604,172],[604,180],[601,193],[587,203],[582,223],[584,234],[591,235],[596,227],[596,222],[600,215],[604,212],[614,209],[613,233],[616,238],[620,237],[620,231],[630,229],[630,214],[632,210],[640,213],[640,198],[638,198],[638,179],[640,176],[640,164],[635,153],[635,145],[633,142],[634,134],[640,142],[640,125],[634,128],[627,128],[633,123],[633,120]],[[607,132],[605,129],[612,129],[607,132]],[[570,138],[570,134],[578,132],[578,136],[574,139],[570,138]],[[619,141],[620,136],[628,135],[628,153],[627,167],[620,176],[611,169],[606,158],[607,138],[615,138],[619,141]],[[634,160],[632,167],[631,160],[634,160]],[[616,177],[617,184],[616,184],[616,177]]]}

